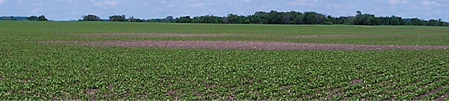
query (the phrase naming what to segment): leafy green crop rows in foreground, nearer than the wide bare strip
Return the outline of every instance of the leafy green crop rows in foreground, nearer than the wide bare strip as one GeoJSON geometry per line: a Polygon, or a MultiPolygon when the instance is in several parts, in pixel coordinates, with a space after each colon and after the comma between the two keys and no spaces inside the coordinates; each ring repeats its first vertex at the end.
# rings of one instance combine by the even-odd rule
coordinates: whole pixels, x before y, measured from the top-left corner
{"type": "Polygon", "coordinates": [[[449,91],[448,50],[0,45],[0,100],[434,100],[449,91]]]}

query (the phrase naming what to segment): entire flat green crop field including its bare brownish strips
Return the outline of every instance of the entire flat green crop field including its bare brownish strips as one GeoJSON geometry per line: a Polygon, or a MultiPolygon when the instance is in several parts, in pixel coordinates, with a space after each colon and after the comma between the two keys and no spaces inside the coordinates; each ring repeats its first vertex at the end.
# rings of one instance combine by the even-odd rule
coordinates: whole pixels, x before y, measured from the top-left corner
{"type": "Polygon", "coordinates": [[[0,100],[449,100],[449,27],[0,21],[0,36],[0,100]]]}

